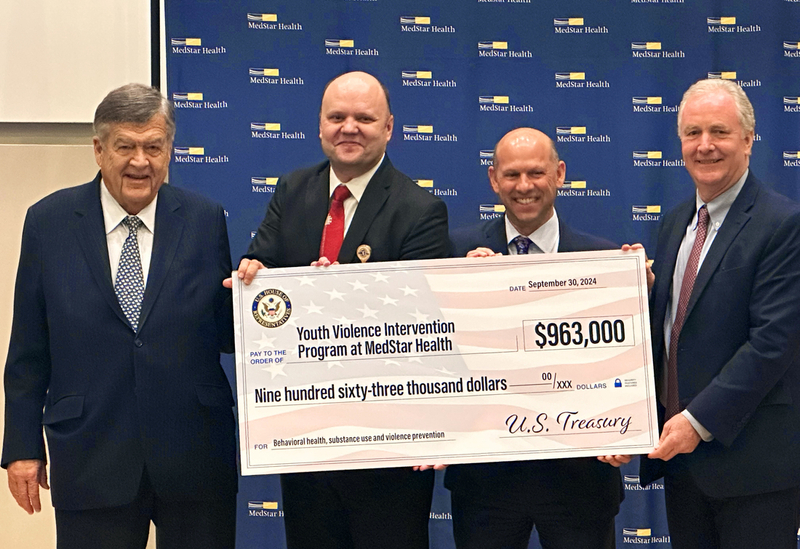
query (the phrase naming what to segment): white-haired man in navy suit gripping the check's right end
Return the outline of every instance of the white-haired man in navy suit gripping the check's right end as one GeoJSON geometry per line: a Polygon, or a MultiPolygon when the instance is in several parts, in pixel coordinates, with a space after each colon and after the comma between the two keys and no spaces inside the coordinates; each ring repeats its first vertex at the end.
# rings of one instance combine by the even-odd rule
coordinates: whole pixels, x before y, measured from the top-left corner
{"type": "Polygon", "coordinates": [[[664,216],[651,293],[672,546],[797,547],[800,209],[749,171],[755,116],[724,80],[687,90],[678,134],[696,192],[664,216]]]}

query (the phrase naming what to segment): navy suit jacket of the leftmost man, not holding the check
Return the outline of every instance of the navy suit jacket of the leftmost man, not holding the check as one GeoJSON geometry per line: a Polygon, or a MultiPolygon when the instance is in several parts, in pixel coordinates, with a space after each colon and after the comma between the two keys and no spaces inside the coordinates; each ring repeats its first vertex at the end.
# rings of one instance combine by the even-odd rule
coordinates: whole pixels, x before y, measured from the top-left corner
{"type": "MultiPolygon", "coordinates": [[[[236,492],[230,252],[222,208],[161,187],[134,333],[111,280],[100,175],[28,210],[5,369],[2,465],[50,455],[57,509],[236,492]]],[[[116,261],[116,258],[114,259],[116,261]]]]}

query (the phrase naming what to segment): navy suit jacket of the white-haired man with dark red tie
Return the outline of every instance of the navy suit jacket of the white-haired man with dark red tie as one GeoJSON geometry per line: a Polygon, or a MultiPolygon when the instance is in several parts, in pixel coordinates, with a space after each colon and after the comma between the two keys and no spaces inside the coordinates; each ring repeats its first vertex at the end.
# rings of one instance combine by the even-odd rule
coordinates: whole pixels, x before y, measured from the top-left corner
{"type": "MultiPolygon", "coordinates": [[[[693,196],[659,230],[650,295],[657,370],[678,248],[694,212],[693,196]]],[[[714,440],[672,461],[713,497],[800,484],[800,208],[752,172],[697,273],[677,359],[681,405],[714,440]]],[[[664,462],[642,460],[642,482],[664,471],[664,462]]]]}

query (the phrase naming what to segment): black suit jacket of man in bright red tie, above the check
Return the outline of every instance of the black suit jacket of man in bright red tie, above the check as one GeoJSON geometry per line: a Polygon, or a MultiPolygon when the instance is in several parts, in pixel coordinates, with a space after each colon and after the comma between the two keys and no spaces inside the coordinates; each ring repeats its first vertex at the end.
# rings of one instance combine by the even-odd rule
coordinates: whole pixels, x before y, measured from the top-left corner
{"type": "MultiPolygon", "coordinates": [[[[319,259],[330,199],[329,162],[281,177],[246,257],[267,267],[308,266],[319,259]]],[[[447,207],[394,169],[389,157],[372,176],[339,251],[339,263],[448,256],[447,207]]]]}

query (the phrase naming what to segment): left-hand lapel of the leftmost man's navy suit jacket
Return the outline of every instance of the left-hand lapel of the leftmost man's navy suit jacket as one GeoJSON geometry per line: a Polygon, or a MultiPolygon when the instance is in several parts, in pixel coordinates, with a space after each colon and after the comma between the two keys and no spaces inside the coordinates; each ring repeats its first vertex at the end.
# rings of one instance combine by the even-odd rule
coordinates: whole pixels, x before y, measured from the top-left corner
{"type": "Polygon", "coordinates": [[[84,185],[81,194],[76,198],[72,226],[100,293],[119,319],[128,324],[119,306],[117,294],[114,293],[114,283],[111,281],[108,242],[106,242],[103,208],[100,205],[100,185],[99,172],[94,181],[84,185]]]}

